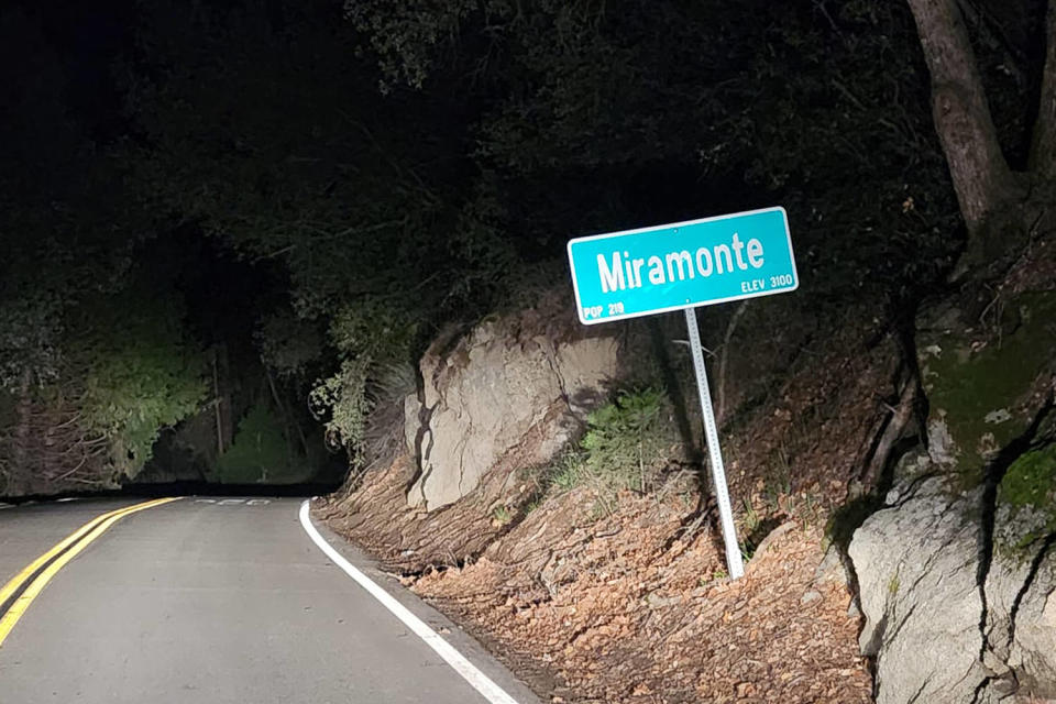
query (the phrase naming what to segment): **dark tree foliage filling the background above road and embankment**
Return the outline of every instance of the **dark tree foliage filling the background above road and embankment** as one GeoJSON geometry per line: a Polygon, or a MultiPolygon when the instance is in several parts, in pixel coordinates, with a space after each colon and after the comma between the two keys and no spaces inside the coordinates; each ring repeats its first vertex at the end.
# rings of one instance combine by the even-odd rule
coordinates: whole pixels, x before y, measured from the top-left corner
{"type": "MultiPolygon", "coordinates": [[[[961,248],[901,3],[97,10],[0,10],[0,417],[21,437],[19,409],[79,389],[110,470],[134,473],[162,428],[222,405],[216,345],[270,383],[218,414],[221,448],[266,396],[362,460],[384,371],[561,280],[571,235],[781,204],[810,305],[892,310],[961,248]],[[227,280],[193,300],[189,264],[157,276],[202,241],[266,295],[235,304],[227,280]]],[[[987,12],[1002,110],[1030,88],[996,68],[987,12]]]]}

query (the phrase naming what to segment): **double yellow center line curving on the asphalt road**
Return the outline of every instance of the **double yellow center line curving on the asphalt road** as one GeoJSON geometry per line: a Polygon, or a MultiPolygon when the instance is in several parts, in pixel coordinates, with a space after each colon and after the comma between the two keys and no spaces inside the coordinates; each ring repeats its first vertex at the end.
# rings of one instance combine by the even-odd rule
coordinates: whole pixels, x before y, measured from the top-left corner
{"type": "Polygon", "coordinates": [[[88,547],[92,540],[101,536],[113,524],[136,512],[154,508],[162,504],[175,502],[174,498],[156,498],[142,504],[133,504],[118,508],[108,514],[97,516],[87,524],[64,538],[54,548],[25,565],[14,578],[0,588],[0,646],[22,618],[22,614],[30,607],[37,594],[51,582],[52,578],[65,566],[67,562],[88,547]]]}

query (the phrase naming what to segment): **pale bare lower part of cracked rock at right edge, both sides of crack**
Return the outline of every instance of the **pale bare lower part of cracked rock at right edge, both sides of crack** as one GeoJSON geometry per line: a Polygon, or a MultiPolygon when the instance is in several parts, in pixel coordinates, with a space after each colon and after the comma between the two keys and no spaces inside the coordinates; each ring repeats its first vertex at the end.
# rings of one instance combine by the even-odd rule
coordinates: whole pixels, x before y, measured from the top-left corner
{"type": "Polygon", "coordinates": [[[893,491],[855,534],[859,644],[877,658],[878,704],[1056,697],[1056,552],[1052,540],[999,542],[987,565],[982,494],[925,480],[893,491]]]}

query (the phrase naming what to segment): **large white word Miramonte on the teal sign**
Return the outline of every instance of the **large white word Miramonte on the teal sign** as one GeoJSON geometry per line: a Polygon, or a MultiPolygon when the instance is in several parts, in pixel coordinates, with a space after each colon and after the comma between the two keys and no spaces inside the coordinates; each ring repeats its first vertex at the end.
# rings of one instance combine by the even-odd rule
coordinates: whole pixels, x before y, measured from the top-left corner
{"type": "Polygon", "coordinates": [[[702,246],[692,253],[679,250],[644,258],[634,258],[626,251],[613,252],[608,258],[604,254],[597,255],[603,294],[641,288],[646,284],[661,286],[696,276],[706,278],[713,274],[746,272],[749,267],[760,268],[762,265],[762,243],[755,238],[741,242],[736,232],[729,244],[702,246]]]}

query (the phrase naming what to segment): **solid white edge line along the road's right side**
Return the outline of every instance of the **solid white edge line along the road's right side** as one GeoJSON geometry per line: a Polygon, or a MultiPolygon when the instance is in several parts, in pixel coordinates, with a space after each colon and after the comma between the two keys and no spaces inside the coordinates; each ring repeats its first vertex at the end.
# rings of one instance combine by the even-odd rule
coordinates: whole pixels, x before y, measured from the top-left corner
{"type": "Polygon", "coordinates": [[[305,532],[308,534],[308,537],[311,538],[311,541],[322,550],[323,554],[341,568],[356,584],[366,590],[371,596],[381,602],[382,606],[387,608],[396,618],[407,626],[407,628],[413,630],[416,636],[421,638],[427,646],[432,648],[444,662],[462,675],[462,679],[469,682],[484,698],[492,704],[517,704],[517,700],[495,684],[486,674],[477,670],[465,656],[455,650],[454,647],[441,638],[437,631],[411,614],[406,606],[397,602],[388,592],[378,586],[374,580],[363,574],[355,565],[334,550],[333,546],[327,542],[326,538],[323,538],[311,524],[307,501],[300,505],[300,525],[304,527],[305,532]]]}

